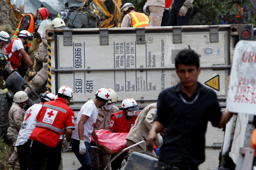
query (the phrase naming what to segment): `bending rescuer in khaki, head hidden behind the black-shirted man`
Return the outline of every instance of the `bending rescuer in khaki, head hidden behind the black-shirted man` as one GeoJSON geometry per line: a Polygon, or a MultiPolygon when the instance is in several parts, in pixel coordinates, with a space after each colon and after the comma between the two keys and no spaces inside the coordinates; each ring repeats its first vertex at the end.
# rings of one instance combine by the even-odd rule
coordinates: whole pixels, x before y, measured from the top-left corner
{"type": "MultiPolygon", "coordinates": [[[[136,121],[135,121],[135,125],[133,127],[131,127],[126,140],[127,140],[127,146],[131,146],[134,145],[138,142],[141,141],[146,141],[147,139],[147,135],[149,134],[149,130],[151,129],[153,122],[154,122],[154,118],[155,116],[157,116],[157,103],[152,103],[147,105],[142,111],[141,113],[139,113],[139,116],[137,117],[136,121]]],[[[165,129],[166,131],[166,129],[165,129]]],[[[164,131],[161,135],[164,134],[164,131]]],[[[158,134],[158,143],[160,147],[161,146],[161,142],[162,142],[162,137],[160,134],[158,134]]],[[[154,151],[150,151],[146,148],[146,143],[134,146],[132,148],[129,149],[129,154],[133,153],[133,152],[147,152],[150,153],[154,156],[155,152],[154,151]]]]}

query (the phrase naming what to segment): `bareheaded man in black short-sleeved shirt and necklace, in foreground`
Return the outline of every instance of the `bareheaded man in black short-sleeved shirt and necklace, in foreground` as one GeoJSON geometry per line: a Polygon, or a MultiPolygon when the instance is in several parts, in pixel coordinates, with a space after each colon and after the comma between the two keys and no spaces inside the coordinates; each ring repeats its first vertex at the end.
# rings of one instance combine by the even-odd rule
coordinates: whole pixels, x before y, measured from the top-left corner
{"type": "Polygon", "coordinates": [[[175,67],[180,82],[159,94],[158,113],[147,147],[152,150],[157,133],[167,127],[156,170],[198,170],[198,165],[205,161],[208,120],[214,127],[222,128],[233,113],[222,114],[215,92],[197,81],[201,68],[193,50],[179,52],[175,67]]]}

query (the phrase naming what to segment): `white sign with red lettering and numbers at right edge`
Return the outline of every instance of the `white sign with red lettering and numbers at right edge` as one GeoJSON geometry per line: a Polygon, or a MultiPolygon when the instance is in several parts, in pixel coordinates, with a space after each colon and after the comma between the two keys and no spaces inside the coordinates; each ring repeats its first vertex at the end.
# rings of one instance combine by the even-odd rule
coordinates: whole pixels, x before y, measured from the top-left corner
{"type": "Polygon", "coordinates": [[[227,109],[256,114],[256,42],[239,41],[235,46],[227,95],[227,109]]]}

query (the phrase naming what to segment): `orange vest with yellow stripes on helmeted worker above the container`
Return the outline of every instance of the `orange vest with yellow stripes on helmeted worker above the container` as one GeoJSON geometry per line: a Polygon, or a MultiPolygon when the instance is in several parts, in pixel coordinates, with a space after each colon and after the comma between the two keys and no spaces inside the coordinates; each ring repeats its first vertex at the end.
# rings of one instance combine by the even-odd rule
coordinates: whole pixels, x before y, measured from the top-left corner
{"type": "Polygon", "coordinates": [[[133,27],[147,27],[149,24],[149,17],[146,16],[146,14],[140,13],[140,12],[130,12],[131,16],[131,24],[133,24],[133,27]]]}

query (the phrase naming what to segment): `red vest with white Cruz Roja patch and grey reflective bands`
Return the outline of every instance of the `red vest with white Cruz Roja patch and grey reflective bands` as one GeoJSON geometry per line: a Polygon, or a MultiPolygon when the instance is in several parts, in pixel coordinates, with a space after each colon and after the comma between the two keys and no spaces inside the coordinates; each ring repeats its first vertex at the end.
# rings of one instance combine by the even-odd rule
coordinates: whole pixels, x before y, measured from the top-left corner
{"type": "Polygon", "coordinates": [[[70,113],[74,116],[74,112],[61,98],[45,102],[37,115],[37,125],[29,138],[56,147],[70,113]]]}

